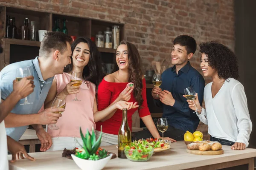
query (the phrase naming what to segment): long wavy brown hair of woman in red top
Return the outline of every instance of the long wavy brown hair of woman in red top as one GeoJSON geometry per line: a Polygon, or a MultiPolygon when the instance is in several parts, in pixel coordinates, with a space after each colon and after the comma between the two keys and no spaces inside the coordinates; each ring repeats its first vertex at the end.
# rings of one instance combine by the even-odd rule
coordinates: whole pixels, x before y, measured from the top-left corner
{"type": "MultiPolygon", "coordinates": [[[[127,45],[127,51],[128,51],[128,62],[129,62],[129,82],[134,83],[134,98],[136,99],[136,102],[138,105],[142,105],[143,98],[142,98],[142,77],[143,73],[141,70],[141,62],[140,62],[140,54],[138,49],[134,44],[127,41],[120,42],[120,45],[125,44],[127,45]]],[[[116,62],[114,62],[116,63],[116,62]]],[[[118,65],[115,64],[115,69],[113,72],[119,70],[118,65]]]]}

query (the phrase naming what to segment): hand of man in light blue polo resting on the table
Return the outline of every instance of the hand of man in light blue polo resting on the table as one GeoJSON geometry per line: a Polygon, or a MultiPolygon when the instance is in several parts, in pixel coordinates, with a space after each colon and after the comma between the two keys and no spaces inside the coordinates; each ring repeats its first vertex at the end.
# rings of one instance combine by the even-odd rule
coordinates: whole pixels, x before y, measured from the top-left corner
{"type": "Polygon", "coordinates": [[[52,137],[43,128],[37,130],[36,135],[41,142],[40,151],[47,151],[52,146],[52,137]]]}

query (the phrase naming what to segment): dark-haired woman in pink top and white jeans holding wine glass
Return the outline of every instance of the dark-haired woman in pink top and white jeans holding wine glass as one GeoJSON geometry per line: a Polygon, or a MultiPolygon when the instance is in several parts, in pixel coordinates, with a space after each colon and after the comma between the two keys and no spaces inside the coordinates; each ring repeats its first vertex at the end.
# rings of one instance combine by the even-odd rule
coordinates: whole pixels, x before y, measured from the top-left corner
{"type": "Polygon", "coordinates": [[[71,45],[71,64],[64,68],[64,73],[55,75],[52,87],[45,101],[45,108],[52,105],[55,96],[66,98],[66,108],[56,125],[58,130],[48,128],[52,136],[52,147],[49,150],[73,149],[82,144],[79,127],[86,132],[95,129],[95,122],[105,118],[116,109],[137,108],[136,103],[120,101],[103,111],[98,111],[96,103],[97,87],[103,78],[100,53],[95,43],[90,39],[79,37],[71,45]],[[70,82],[72,71],[82,72],[83,81],[80,86],[72,86],[77,82],[70,82]],[[72,101],[75,95],[80,101],[72,101]]]}

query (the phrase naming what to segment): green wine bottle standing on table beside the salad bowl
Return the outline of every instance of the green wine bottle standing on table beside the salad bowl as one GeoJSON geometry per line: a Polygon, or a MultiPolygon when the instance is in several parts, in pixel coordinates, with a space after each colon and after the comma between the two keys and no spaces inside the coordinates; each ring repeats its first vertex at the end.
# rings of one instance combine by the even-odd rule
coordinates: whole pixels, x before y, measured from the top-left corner
{"type": "Polygon", "coordinates": [[[124,149],[131,145],[131,130],[127,122],[127,108],[122,110],[122,124],[118,132],[118,158],[126,158],[124,149]]]}

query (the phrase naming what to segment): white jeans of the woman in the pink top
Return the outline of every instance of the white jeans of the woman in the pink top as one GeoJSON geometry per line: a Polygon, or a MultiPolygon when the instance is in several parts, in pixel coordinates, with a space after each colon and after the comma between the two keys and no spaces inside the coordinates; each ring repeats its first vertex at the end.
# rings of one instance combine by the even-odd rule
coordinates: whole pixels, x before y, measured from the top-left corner
{"type": "Polygon", "coordinates": [[[52,138],[52,147],[47,151],[64,150],[64,148],[72,150],[75,147],[81,147],[80,144],[83,146],[81,138],[54,137],[52,138]]]}

